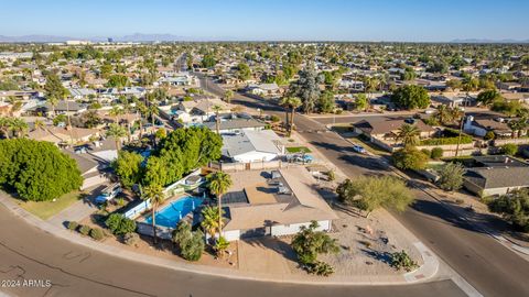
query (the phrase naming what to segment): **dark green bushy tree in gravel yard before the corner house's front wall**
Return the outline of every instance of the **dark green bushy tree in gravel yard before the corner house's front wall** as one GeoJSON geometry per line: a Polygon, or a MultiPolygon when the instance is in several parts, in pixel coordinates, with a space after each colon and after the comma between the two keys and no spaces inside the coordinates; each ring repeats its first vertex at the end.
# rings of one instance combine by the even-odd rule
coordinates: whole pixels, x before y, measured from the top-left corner
{"type": "Polygon", "coordinates": [[[339,248],[337,240],[323,232],[316,231],[320,226],[312,221],[309,227],[302,226],[300,231],[292,239],[292,249],[298,260],[307,271],[317,263],[319,254],[337,253],[339,248]]]}

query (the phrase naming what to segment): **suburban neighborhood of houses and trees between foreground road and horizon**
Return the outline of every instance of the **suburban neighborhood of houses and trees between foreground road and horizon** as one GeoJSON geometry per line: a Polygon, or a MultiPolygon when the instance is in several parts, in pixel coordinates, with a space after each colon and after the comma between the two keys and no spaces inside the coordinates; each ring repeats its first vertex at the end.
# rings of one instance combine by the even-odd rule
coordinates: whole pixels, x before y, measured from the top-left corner
{"type": "Polygon", "coordinates": [[[2,204],[198,271],[428,279],[430,205],[529,250],[528,131],[527,44],[0,44],[2,204]]]}

